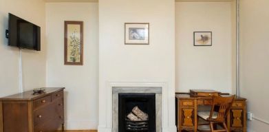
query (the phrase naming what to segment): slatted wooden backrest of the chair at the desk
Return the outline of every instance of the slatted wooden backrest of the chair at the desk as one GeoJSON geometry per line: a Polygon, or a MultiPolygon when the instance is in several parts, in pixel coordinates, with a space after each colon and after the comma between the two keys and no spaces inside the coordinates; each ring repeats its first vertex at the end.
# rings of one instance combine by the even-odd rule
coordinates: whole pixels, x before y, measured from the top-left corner
{"type": "Polygon", "coordinates": [[[213,96],[212,98],[213,104],[211,107],[211,114],[209,116],[209,119],[215,122],[224,122],[234,98],[235,96],[230,97],[213,96]],[[212,118],[213,112],[215,111],[215,107],[219,107],[217,111],[218,112],[217,118],[212,118]]]}

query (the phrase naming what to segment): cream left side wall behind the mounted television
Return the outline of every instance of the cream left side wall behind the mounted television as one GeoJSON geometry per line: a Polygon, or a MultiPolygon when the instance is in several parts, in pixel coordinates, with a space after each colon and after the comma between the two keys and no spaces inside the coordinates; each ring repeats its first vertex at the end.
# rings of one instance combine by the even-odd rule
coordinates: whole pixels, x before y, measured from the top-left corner
{"type": "Polygon", "coordinates": [[[0,96],[19,93],[19,48],[8,46],[8,13],[41,27],[41,52],[22,51],[23,89],[45,86],[45,3],[43,0],[0,0],[0,96]]]}

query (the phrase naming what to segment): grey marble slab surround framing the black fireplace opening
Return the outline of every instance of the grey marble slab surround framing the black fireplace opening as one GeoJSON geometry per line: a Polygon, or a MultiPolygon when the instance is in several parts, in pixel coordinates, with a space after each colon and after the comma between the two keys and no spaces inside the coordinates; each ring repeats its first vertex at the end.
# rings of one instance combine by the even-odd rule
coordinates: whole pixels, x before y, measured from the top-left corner
{"type": "Polygon", "coordinates": [[[156,132],[162,131],[162,87],[112,87],[112,132],[118,132],[118,94],[155,94],[156,132]]]}

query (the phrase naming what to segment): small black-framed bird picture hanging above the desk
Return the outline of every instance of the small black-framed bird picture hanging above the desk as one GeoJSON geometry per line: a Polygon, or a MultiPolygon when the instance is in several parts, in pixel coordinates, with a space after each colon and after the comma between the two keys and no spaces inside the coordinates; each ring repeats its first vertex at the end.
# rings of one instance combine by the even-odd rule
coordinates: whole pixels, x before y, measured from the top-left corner
{"type": "Polygon", "coordinates": [[[194,46],[212,46],[212,32],[193,32],[194,46]]]}

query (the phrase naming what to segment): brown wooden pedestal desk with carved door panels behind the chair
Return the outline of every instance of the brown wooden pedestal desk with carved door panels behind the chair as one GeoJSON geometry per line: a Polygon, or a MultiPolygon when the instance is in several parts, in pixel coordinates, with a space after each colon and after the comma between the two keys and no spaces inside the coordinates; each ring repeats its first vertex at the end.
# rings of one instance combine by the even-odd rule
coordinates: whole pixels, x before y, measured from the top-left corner
{"type": "MultiPolygon", "coordinates": [[[[206,90],[208,91],[208,90],[206,90]]],[[[199,91],[198,91],[199,92],[199,91]]],[[[197,111],[200,105],[212,105],[212,96],[191,96],[190,93],[176,93],[176,125],[177,131],[197,132],[197,111]]],[[[229,94],[219,94],[227,97],[229,94]]],[[[246,132],[246,98],[235,97],[230,111],[227,113],[226,124],[231,132],[246,132]]]]}

